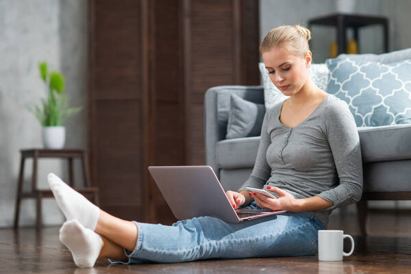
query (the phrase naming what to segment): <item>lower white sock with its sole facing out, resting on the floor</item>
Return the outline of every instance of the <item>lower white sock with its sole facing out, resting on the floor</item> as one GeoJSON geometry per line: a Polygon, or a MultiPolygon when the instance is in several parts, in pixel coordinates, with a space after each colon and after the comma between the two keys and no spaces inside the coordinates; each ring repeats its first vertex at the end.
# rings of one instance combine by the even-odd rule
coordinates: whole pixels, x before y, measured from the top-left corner
{"type": "Polygon", "coordinates": [[[60,228],[60,242],[73,255],[75,264],[79,267],[94,266],[101,250],[101,237],[91,229],[84,227],[79,221],[66,221],[60,228]]]}

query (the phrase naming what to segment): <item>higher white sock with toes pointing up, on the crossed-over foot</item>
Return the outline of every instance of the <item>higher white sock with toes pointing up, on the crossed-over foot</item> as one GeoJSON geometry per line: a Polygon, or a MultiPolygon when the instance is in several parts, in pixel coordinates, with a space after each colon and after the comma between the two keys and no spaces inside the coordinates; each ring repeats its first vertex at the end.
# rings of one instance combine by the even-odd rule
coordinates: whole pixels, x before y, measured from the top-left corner
{"type": "Polygon", "coordinates": [[[99,221],[100,209],[55,174],[49,173],[47,179],[55,200],[66,219],[68,221],[77,219],[84,227],[94,231],[97,221],[99,221]]]}

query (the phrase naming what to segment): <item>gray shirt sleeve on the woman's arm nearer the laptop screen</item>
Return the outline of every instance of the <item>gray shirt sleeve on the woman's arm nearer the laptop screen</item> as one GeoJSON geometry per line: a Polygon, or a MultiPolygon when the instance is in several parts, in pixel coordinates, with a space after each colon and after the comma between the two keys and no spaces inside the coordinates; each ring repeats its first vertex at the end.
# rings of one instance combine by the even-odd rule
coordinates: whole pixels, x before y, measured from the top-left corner
{"type": "Polygon", "coordinates": [[[263,188],[271,176],[271,167],[266,160],[267,149],[269,149],[269,145],[271,144],[271,138],[267,131],[267,123],[269,123],[268,116],[269,112],[267,111],[262,121],[260,145],[258,146],[256,164],[254,164],[253,172],[249,179],[238,188],[238,192],[245,190],[247,186],[251,188],[263,188]]]}

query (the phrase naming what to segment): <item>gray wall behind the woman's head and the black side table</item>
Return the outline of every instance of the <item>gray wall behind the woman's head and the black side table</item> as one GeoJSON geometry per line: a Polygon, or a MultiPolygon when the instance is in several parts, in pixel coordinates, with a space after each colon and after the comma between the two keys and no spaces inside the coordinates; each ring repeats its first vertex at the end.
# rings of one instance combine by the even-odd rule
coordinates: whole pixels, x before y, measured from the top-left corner
{"type": "MultiPolygon", "coordinates": [[[[410,0],[358,0],[359,14],[387,16],[390,20],[390,51],[411,47],[410,0]]],[[[260,40],[279,25],[300,24],[308,26],[308,20],[336,12],[331,0],[260,0],[260,40]]],[[[329,45],[336,39],[330,27],[312,27],[312,54],[315,63],[329,58],[329,45]]],[[[349,36],[352,36],[349,33],[349,36]]],[[[382,53],[382,28],[364,27],[360,30],[360,53],[382,53]]],[[[411,208],[411,201],[369,201],[370,208],[411,208]]]]}

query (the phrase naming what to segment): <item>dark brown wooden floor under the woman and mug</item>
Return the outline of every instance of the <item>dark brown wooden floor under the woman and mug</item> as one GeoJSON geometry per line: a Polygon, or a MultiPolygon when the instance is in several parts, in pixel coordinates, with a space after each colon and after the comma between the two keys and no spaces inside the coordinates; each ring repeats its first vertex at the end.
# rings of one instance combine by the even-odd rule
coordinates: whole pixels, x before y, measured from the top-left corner
{"type": "Polygon", "coordinates": [[[411,214],[374,212],[370,235],[355,236],[355,216],[334,216],[329,229],[354,235],[356,251],[343,262],[319,262],[317,256],[205,260],[178,264],[113,265],[98,260],[93,269],[78,269],[59,242],[59,227],[0,229],[0,273],[411,273],[411,214]]]}

